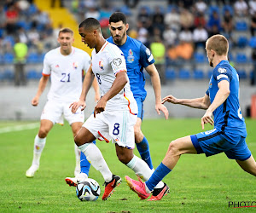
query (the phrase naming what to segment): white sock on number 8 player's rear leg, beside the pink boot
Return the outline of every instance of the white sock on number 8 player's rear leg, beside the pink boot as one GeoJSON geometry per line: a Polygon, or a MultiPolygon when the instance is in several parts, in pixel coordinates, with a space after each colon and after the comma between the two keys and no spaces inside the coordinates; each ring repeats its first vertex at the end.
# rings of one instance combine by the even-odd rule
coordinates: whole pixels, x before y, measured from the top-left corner
{"type": "MultiPolygon", "coordinates": [[[[153,173],[153,171],[150,170],[150,168],[148,167],[148,164],[146,164],[145,161],[143,161],[141,158],[138,158],[135,155],[133,156],[131,161],[128,164],[126,164],[126,166],[133,170],[135,174],[137,174],[137,176],[141,177],[143,181],[148,181],[148,179],[153,173]]],[[[164,183],[160,181],[158,182],[158,184],[155,184],[154,187],[164,187],[164,183]]]]}

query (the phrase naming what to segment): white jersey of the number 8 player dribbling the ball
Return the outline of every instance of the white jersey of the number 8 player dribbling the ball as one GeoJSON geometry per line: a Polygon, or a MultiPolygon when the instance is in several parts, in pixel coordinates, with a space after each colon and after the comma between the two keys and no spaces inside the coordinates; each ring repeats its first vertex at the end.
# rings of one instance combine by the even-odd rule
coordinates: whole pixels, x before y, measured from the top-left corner
{"type": "MultiPolygon", "coordinates": [[[[101,89],[101,95],[105,95],[112,87],[118,72],[126,72],[125,56],[113,43],[104,43],[102,49],[91,53],[92,72],[101,89]]],[[[130,83],[126,83],[119,94],[108,100],[106,111],[130,111],[137,114],[137,102],[131,92],[130,83]]]]}

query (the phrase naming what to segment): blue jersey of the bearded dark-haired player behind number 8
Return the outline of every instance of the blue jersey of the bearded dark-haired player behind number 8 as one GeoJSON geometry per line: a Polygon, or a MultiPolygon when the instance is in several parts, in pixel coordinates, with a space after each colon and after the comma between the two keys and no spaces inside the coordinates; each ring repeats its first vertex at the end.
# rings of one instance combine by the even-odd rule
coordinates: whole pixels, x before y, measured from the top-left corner
{"type": "MultiPolygon", "coordinates": [[[[107,41],[109,43],[113,43],[113,37],[108,37],[107,41]]],[[[154,57],[143,43],[129,36],[127,36],[127,40],[123,45],[117,46],[125,55],[131,91],[134,97],[140,96],[144,101],[147,96],[147,91],[144,88],[145,76],[143,73],[143,68],[153,64],[154,57]]]]}

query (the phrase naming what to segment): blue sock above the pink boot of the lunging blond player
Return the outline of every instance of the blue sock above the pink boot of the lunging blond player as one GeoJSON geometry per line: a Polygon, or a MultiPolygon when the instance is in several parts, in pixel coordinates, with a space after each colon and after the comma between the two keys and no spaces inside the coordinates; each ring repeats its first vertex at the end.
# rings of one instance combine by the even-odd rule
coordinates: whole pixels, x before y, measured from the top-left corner
{"type": "Polygon", "coordinates": [[[168,173],[172,171],[165,164],[161,163],[155,170],[152,176],[146,181],[146,186],[150,191],[161,181],[168,173]]]}

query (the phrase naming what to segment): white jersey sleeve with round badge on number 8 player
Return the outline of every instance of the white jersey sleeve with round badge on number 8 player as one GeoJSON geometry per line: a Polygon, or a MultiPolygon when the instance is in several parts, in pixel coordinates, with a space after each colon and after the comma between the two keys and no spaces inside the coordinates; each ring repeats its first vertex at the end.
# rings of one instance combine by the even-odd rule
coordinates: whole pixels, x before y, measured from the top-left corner
{"type": "Polygon", "coordinates": [[[123,52],[117,47],[113,49],[114,52],[108,58],[110,65],[113,69],[113,74],[116,75],[119,72],[127,71],[126,63],[125,63],[125,55],[123,52]]]}

